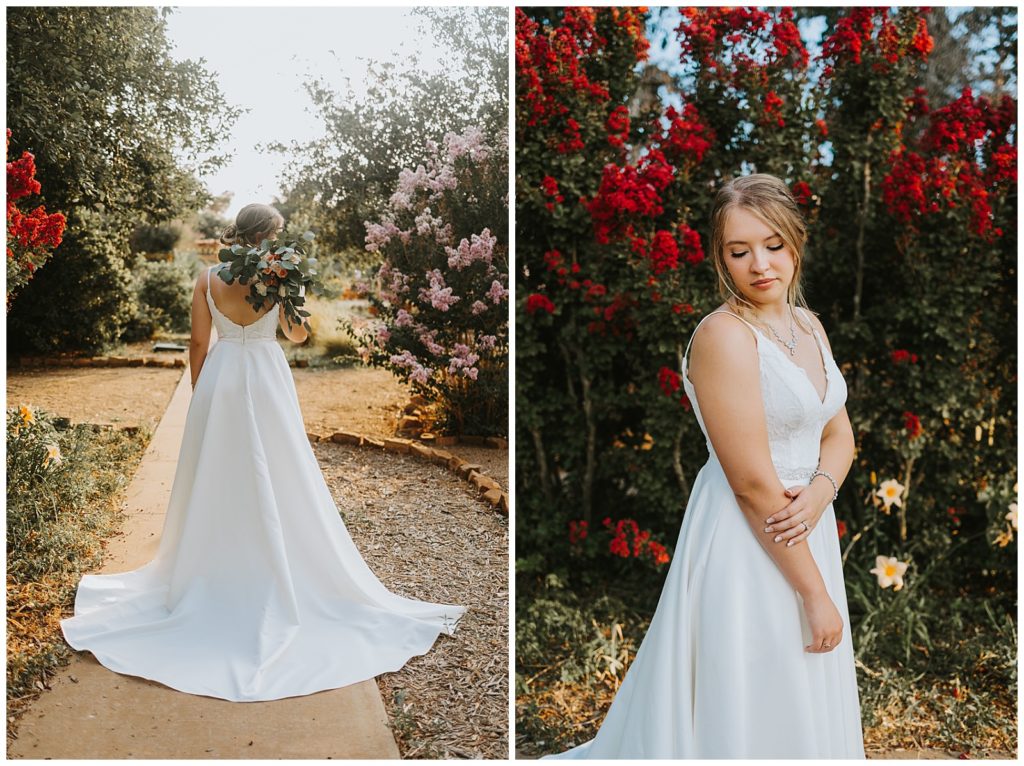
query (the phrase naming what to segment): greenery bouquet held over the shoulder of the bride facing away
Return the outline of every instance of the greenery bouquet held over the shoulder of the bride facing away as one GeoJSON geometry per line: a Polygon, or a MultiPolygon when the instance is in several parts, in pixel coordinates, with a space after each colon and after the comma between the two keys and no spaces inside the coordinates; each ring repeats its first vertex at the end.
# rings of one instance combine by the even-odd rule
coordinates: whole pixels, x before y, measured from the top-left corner
{"type": "Polygon", "coordinates": [[[316,275],[316,259],[308,254],[309,244],[315,236],[306,231],[300,240],[292,240],[283,245],[273,240],[263,240],[259,245],[231,245],[220,251],[220,260],[230,266],[218,271],[218,275],[228,285],[238,280],[249,285],[246,301],[253,311],[259,312],[267,300],[285,307],[288,326],[302,325],[309,331],[305,321],[309,312],[301,306],[305,303],[306,288],[313,295],[325,295],[327,288],[316,275]]]}

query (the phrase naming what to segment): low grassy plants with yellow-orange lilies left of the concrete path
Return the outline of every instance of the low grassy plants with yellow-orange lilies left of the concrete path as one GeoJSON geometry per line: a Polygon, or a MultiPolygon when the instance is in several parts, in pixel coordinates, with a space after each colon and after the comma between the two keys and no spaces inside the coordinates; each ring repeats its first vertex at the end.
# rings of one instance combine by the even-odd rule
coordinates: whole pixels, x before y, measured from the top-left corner
{"type": "Polygon", "coordinates": [[[118,524],[111,502],[147,433],[95,431],[27,406],[7,410],[7,695],[42,684],[71,654],[59,620],[118,524]]]}

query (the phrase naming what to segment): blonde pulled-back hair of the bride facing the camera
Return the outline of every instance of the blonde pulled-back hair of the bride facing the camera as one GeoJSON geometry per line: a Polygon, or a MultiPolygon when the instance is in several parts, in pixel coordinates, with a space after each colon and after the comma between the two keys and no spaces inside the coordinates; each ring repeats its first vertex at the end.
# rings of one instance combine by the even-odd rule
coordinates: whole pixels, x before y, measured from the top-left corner
{"type": "MultiPolygon", "coordinates": [[[[782,238],[782,242],[793,253],[794,265],[793,282],[790,283],[786,302],[791,306],[800,306],[813,313],[804,299],[801,285],[807,224],[788,186],[780,178],[768,173],[752,173],[733,178],[718,190],[712,204],[709,247],[715,272],[718,274],[718,292],[722,299],[736,308],[737,313],[750,312],[756,316],[754,304],[739,295],[739,290],[725,265],[725,220],[733,208],[742,208],[752,213],[782,238]]],[[[805,327],[801,312],[793,313],[797,323],[811,332],[812,328],[805,327]]]]}

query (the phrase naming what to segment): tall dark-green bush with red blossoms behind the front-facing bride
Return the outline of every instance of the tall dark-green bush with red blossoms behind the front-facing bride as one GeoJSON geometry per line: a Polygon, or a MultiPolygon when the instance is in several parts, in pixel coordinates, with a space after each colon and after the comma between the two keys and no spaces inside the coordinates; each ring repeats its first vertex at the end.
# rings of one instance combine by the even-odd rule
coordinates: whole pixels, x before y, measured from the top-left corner
{"type": "Polygon", "coordinates": [[[811,67],[793,9],[685,8],[673,77],[641,66],[639,11],[517,10],[518,611],[549,574],[584,604],[649,579],[614,539],[581,545],[583,522],[678,530],[707,459],[679,369],[721,302],[708,213],[726,179],[773,173],[808,221],[805,290],[849,388],[856,455],[835,509],[864,698],[896,668],[918,674],[904,691],[933,694],[997,625],[999,659],[972,693],[1008,709],[1016,99],[967,89],[929,104],[927,12],[837,10],[811,67]],[[884,502],[897,485],[900,503],[884,502]],[[907,565],[902,587],[871,571],[879,556],[907,565]]]}

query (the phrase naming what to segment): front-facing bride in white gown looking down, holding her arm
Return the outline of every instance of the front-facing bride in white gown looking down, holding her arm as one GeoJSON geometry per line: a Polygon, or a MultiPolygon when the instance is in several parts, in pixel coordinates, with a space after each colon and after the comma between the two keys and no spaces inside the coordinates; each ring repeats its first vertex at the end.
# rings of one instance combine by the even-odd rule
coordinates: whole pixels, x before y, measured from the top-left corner
{"type": "Polygon", "coordinates": [[[715,200],[725,303],[682,365],[709,459],[600,730],[555,757],[864,757],[831,505],[854,437],[824,329],[797,308],[805,241],[774,176],[737,178],[715,200]]]}

